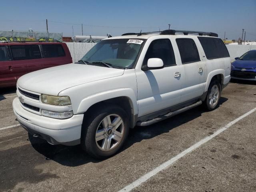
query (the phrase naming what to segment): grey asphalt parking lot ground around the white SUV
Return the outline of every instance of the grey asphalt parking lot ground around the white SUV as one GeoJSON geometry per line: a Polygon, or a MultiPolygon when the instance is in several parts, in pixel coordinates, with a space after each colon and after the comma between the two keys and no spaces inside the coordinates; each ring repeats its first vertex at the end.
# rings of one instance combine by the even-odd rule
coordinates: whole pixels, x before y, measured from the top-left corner
{"type": "MultiPolygon", "coordinates": [[[[106,160],[80,146],[32,138],[12,111],[15,88],[0,89],[0,191],[119,191],[256,108],[256,83],[232,82],[211,112],[201,106],[130,131],[106,160]],[[14,126],[14,127],[11,127],[14,126]]],[[[153,174],[132,191],[256,191],[256,112],[153,174]]]]}

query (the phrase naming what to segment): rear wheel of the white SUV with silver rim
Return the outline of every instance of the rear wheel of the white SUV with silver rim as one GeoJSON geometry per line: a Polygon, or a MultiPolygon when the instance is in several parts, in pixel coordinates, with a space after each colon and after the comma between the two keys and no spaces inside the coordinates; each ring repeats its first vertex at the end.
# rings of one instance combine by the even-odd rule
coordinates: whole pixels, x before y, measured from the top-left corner
{"type": "Polygon", "coordinates": [[[217,80],[212,80],[208,87],[206,99],[204,100],[204,107],[207,110],[212,111],[217,108],[220,101],[220,93],[220,83],[217,80]]]}

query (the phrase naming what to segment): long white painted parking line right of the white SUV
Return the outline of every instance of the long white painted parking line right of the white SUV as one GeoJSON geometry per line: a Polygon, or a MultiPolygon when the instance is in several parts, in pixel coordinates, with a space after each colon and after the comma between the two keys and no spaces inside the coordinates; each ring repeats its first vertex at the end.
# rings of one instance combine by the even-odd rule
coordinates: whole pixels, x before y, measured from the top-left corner
{"type": "Polygon", "coordinates": [[[200,140],[199,142],[197,142],[196,144],[192,145],[190,148],[187,148],[186,150],[184,150],[183,152],[181,152],[180,154],[176,155],[175,157],[171,158],[170,160],[164,162],[163,164],[161,164],[160,166],[156,167],[155,169],[153,169],[152,171],[148,172],[147,174],[145,174],[144,176],[138,178],[137,180],[135,180],[134,182],[132,182],[131,184],[129,184],[128,186],[122,188],[119,192],[128,192],[133,190],[134,188],[136,188],[137,186],[139,186],[140,184],[146,182],[149,178],[151,178],[152,176],[156,175],[158,172],[168,168],[170,165],[172,165],[174,162],[176,162],[177,160],[179,160],[180,158],[182,158],[183,156],[185,156],[186,154],[192,152],[193,150],[195,150],[196,148],[200,147],[202,144],[208,142],[209,140],[211,140],[212,138],[216,137],[218,134],[224,132],[227,128],[229,128],[230,126],[232,126],[233,124],[235,124],[236,122],[240,121],[241,119],[243,119],[244,117],[250,115],[251,113],[255,112],[256,108],[250,110],[249,112],[247,112],[246,114],[236,118],[234,121],[228,123],[226,126],[220,128],[219,130],[217,130],[216,132],[214,132],[214,134],[207,136],[206,138],[200,140]]]}

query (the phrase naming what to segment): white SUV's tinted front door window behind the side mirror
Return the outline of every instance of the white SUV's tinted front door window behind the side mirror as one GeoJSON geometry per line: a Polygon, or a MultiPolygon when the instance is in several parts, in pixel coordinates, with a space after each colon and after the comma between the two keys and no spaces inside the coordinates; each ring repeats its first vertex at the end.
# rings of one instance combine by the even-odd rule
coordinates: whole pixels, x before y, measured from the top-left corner
{"type": "Polygon", "coordinates": [[[146,65],[150,58],[162,59],[164,67],[176,66],[174,51],[169,39],[152,41],[146,52],[143,64],[146,65]]]}

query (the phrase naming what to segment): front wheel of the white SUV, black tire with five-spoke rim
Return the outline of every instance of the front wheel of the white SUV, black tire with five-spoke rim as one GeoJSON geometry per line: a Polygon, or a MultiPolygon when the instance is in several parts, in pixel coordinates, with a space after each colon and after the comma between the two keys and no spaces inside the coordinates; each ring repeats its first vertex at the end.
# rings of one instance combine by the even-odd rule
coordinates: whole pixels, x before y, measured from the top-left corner
{"type": "Polygon", "coordinates": [[[128,115],[116,105],[98,105],[90,114],[82,125],[82,149],[98,159],[116,154],[129,134],[128,115]]]}

